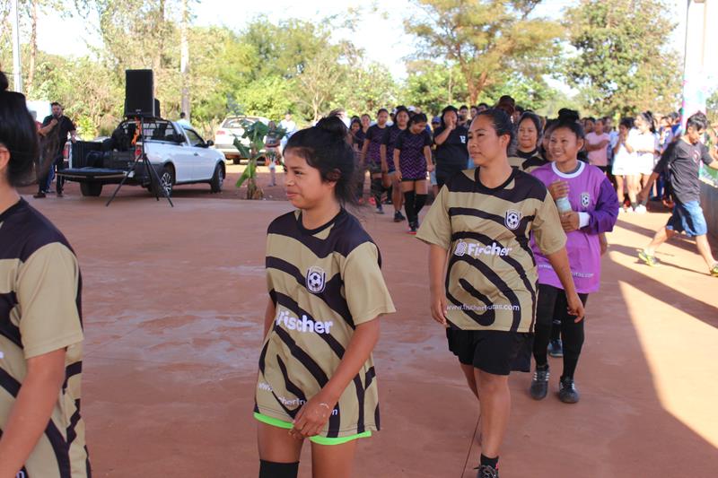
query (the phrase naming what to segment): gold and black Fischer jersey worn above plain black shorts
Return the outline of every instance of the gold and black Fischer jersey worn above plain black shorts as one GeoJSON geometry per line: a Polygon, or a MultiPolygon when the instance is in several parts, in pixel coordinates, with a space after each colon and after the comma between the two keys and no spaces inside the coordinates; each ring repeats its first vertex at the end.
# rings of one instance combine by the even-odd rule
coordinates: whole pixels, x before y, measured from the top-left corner
{"type": "Polygon", "coordinates": [[[530,248],[553,254],[566,236],[547,188],[518,169],[485,187],[479,169],[442,187],[416,237],[450,254],[446,298],[450,326],[532,332],[538,273],[530,248]]]}

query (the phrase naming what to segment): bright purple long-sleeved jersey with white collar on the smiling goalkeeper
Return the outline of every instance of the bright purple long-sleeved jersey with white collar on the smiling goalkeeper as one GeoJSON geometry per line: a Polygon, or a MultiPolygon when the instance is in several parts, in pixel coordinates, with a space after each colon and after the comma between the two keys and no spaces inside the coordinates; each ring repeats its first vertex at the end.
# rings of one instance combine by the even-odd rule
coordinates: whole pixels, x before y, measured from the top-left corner
{"type": "MultiPolygon", "coordinates": [[[[618,218],[618,197],[606,174],[595,166],[579,161],[579,169],[565,174],[550,163],[531,171],[547,187],[552,183],[568,181],[568,200],[571,208],[578,213],[587,213],[588,223],[579,230],[566,233],[566,251],[571,274],[574,276],[576,291],[591,293],[600,286],[600,242],[599,234],[613,230],[618,218]]],[[[563,289],[561,281],[546,256],[531,238],[531,248],[538,267],[538,283],[563,289]]]]}

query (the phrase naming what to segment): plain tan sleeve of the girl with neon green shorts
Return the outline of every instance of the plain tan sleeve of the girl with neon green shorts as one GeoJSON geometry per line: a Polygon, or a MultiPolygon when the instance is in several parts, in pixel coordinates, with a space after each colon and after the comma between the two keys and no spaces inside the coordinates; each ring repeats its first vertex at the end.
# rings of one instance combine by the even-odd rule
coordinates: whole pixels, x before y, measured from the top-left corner
{"type": "Polygon", "coordinates": [[[397,311],[381,274],[379,249],[372,242],[364,242],[346,256],[342,280],[355,326],[397,311]]]}

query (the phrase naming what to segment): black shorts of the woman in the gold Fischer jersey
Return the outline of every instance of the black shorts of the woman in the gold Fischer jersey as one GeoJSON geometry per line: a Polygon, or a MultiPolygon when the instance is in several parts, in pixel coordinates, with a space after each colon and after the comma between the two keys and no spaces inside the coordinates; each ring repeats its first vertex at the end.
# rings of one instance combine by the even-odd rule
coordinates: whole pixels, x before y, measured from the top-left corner
{"type": "Polygon", "coordinates": [[[533,334],[500,330],[446,329],[449,350],[464,365],[494,375],[531,369],[533,334]]]}

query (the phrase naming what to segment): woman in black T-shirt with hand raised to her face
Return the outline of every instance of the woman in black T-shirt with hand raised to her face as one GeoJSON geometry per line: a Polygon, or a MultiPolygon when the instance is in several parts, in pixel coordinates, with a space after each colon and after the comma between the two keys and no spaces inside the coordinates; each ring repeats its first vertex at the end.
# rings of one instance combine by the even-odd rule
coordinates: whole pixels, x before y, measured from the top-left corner
{"type": "Polygon", "coordinates": [[[433,132],[436,145],[436,185],[441,189],[451,177],[466,169],[468,128],[459,125],[459,111],[447,106],[442,110],[442,125],[433,132]]]}

